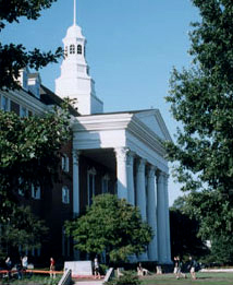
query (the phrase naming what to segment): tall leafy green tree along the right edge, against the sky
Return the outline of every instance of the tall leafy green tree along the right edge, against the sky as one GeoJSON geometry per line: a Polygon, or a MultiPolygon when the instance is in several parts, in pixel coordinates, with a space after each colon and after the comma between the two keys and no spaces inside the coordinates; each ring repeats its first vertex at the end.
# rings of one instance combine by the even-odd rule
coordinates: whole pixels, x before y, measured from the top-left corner
{"type": "Polygon", "coordinates": [[[233,2],[193,0],[200,21],[191,32],[191,69],[173,70],[171,103],[181,122],[176,143],[167,143],[175,176],[189,191],[189,213],[205,239],[233,229],[233,2]]]}

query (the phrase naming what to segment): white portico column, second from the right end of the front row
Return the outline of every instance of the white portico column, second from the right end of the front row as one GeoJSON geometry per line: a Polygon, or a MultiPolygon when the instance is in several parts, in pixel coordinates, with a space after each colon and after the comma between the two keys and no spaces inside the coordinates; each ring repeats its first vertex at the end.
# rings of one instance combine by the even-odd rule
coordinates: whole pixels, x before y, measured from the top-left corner
{"type": "Polygon", "coordinates": [[[157,219],[158,219],[158,261],[165,262],[165,216],[164,216],[164,189],[163,175],[158,173],[157,178],[157,219]]]}

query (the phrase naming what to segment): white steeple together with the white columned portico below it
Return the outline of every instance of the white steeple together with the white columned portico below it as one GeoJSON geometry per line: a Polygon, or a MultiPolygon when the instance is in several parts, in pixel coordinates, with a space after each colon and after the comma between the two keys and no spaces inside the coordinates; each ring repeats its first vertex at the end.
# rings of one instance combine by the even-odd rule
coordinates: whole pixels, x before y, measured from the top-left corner
{"type": "MultiPolygon", "coordinates": [[[[74,23],[63,38],[65,58],[61,76],[56,80],[56,94],[76,98],[81,114],[73,124],[73,212],[78,214],[96,192],[97,170],[91,167],[87,170],[87,199],[81,198],[84,187],[79,157],[84,156],[115,174],[118,197],[137,205],[155,230],[148,252],[140,260],[170,263],[169,168],[161,141],[171,136],[158,109],[103,112],[88,74],[86,39],[76,24],[75,4],[74,0],[74,23]]],[[[109,177],[108,173],[105,177],[109,177]]]]}

